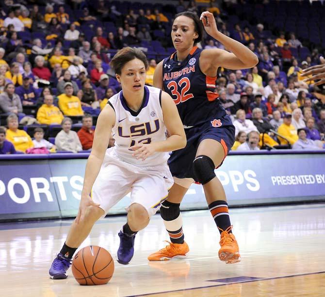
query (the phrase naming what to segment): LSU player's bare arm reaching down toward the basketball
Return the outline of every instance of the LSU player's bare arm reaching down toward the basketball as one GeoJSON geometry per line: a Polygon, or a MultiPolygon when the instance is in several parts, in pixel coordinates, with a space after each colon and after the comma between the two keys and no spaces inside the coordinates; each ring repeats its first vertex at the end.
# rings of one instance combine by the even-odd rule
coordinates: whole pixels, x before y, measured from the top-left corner
{"type": "Polygon", "coordinates": [[[99,204],[93,202],[89,194],[103,162],[114,123],[115,111],[109,104],[107,104],[98,116],[93,147],[87,160],[83,179],[81,201],[76,218],[77,223],[83,219],[88,206],[99,206],[99,204]]]}

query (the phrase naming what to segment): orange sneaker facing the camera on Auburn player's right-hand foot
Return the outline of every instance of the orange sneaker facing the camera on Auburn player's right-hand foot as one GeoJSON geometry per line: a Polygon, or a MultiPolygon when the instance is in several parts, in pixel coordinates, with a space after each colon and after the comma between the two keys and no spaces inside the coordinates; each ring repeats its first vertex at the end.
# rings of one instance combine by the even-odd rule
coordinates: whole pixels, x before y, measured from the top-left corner
{"type": "Polygon", "coordinates": [[[241,261],[241,255],[239,253],[238,243],[235,235],[228,233],[232,226],[228,227],[225,231],[222,231],[219,244],[221,249],[219,250],[219,259],[226,262],[226,264],[237,263],[241,261]]]}

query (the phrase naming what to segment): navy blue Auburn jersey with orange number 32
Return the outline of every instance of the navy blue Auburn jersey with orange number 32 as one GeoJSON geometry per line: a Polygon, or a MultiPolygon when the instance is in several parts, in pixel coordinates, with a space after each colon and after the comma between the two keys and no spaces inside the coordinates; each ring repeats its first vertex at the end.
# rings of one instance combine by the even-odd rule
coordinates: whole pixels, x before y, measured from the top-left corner
{"type": "Polygon", "coordinates": [[[174,53],[162,64],[164,91],[174,99],[186,126],[200,125],[226,114],[216,93],[216,77],[206,76],[199,67],[201,52],[202,49],[193,47],[183,61],[177,61],[174,53]]]}

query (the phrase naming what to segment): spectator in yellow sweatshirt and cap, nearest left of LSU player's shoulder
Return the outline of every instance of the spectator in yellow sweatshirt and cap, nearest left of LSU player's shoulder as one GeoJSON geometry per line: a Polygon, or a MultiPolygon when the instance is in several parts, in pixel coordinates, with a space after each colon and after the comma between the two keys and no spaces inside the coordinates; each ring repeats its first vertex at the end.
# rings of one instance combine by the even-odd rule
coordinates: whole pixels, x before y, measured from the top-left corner
{"type": "Polygon", "coordinates": [[[73,85],[70,81],[65,83],[65,93],[58,96],[59,108],[66,116],[81,116],[83,110],[81,101],[77,96],[73,96],[73,85]]]}

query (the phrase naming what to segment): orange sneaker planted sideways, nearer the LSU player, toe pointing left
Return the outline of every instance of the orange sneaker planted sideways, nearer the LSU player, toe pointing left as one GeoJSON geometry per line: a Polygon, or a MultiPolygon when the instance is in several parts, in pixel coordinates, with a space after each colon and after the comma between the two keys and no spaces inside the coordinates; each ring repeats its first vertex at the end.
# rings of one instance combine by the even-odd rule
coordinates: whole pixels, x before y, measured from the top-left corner
{"type": "Polygon", "coordinates": [[[167,240],[165,240],[165,241],[168,242],[169,245],[164,247],[163,249],[149,255],[149,257],[148,257],[149,261],[167,261],[172,258],[185,258],[186,257],[186,253],[189,252],[189,247],[185,241],[181,244],[172,243],[167,240]]]}

